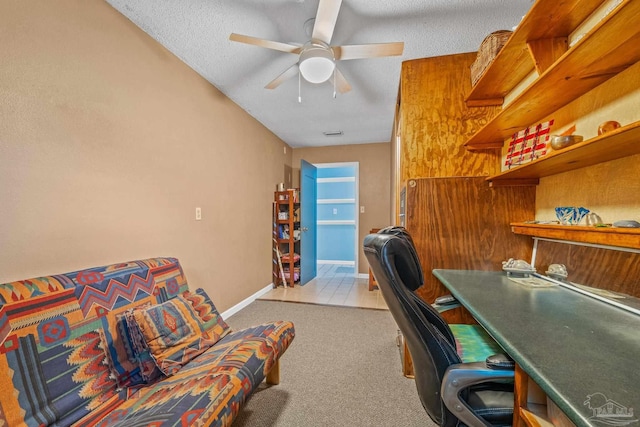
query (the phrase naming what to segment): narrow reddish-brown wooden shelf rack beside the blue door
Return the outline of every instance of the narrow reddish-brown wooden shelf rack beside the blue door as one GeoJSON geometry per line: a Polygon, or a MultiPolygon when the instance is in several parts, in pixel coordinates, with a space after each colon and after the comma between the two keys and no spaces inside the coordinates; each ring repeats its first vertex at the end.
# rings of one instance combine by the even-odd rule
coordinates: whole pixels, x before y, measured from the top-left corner
{"type": "Polygon", "coordinates": [[[276,191],[273,202],[273,284],[300,282],[300,191],[276,191]]]}

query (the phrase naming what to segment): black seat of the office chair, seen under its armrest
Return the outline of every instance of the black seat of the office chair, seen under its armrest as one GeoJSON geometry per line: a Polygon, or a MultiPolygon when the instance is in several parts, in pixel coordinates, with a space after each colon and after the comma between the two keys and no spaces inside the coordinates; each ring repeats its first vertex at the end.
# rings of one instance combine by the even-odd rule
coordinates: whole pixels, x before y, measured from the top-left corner
{"type": "Polygon", "coordinates": [[[513,399],[513,384],[486,383],[471,388],[467,403],[488,423],[510,426],[513,423],[513,399]]]}

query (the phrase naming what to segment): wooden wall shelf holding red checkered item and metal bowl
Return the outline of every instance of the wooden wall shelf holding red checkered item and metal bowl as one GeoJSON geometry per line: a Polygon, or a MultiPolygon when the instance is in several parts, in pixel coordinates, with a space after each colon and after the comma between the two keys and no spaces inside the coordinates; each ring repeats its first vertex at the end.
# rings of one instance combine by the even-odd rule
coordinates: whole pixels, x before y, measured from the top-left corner
{"type": "Polygon", "coordinates": [[[536,185],[540,178],[593,166],[598,163],[640,154],[640,122],[613,132],[574,144],[544,157],[490,176],[487,181],[498,185],[536,185]]]}

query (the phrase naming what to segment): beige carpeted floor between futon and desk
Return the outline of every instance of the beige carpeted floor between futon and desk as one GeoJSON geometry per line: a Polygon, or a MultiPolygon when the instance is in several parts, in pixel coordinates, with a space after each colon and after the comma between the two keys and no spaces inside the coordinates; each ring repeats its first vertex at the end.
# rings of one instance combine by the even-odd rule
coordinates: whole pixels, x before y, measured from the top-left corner
{"type": "Polygon", "coordinates": [[[435,427],[413,380],[402,376],[388,311],[255,301],[226,320],[240,329],[278,319],[296,328],[280,385],[263,382],[234,427],[435,427]]]}

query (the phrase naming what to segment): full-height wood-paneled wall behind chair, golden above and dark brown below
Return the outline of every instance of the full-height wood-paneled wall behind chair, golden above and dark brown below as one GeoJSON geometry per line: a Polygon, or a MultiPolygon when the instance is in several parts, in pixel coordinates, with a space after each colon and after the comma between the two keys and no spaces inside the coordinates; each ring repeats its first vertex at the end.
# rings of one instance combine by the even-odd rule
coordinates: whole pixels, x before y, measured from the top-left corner
{"type": "MultiPolygon", "coordinates": [[[[509,224],[534,218],[535,188],[492,189],[500,151],[469,152],[464,142],[500,107],[468,107],[475,53],[402,64],[396,132],[400,158],[396,190],[406,185],[406,227],[425,274],[418,294],[432,303],[447,290],[434,268],[498,270],[508,258],[531,256],[532,240],[509,224]]],[[[399,206],[399,205],[398,205],[399,206]]],[[[463,308],[443,313],[450,323],[474,323],[463,308]]]]}

